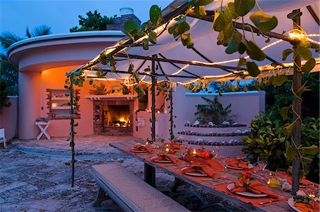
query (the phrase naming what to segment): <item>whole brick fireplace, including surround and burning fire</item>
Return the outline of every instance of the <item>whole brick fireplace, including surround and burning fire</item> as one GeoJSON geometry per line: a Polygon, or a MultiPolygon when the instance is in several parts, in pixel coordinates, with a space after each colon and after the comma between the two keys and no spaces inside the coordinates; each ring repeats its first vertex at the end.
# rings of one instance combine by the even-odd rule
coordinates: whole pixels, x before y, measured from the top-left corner
{"type": "Polygon", "coordinates": [[[132,136],[134,100],[110,98],[93,101],[93,130],[95,134],[132,136]]]}

